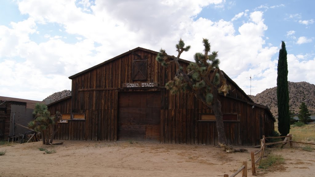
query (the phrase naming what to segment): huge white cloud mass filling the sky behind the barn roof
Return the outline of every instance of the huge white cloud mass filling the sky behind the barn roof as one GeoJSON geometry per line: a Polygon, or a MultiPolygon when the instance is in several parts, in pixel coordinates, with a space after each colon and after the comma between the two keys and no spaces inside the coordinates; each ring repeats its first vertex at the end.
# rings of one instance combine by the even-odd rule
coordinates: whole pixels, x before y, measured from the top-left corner
{"type": "MultiPolygon", "coordinates": [[[[73,0],[24,0],[18,3],[21,13],[28,14],[29,19],[22,21],[23,28],[0,26],[0,36],[5,36],[0,40],[0,59],[6,59],[0,61],[0,70],[7,74],[0,77],[14,80],[3,82],[8,85],[0,88],[0,93],[20,98],[28,95],[28,99],[40,100],[54,92],[71,89],[69,76],[138,46],[155,51],[163,47],[173,55],[174,44],[180,37],[192,46],[181,56],[186,60],[192,60],[195,52],[202,52],[202,38],[208,38],[211,49],[219,51],[221,69],[234,77],[241,88],[248,88],[246,77],[252,74],[253,88],[256,89],[252,94],[261,92],[260,88],[275,85],[277,63],[272,58],[278,47],[265,43],[264,39],[268,37],[264,33],[268,27],[261,11],[250,13],[245,10],[231,21],[214,21],[195,17],[202,8],[224,6],[225,1],[96,0],[90,3],[83,0],[76,3],[73,0]],[[234,26],[232,21],[241,17],[243,24],[234,26]],[[54,31],[49,33],[51,35],[40,31],[46,41],[31,41],[29,36],[37,30],[39,23],[62,26],[62,36],[52,35],[54,31]],[[11,33],[15,35],[8,35],[11,33]],[[77,42],[67,43],[64,33],[74,36],[77,42]],[[1,45],[10,47],[4,50],[1,45]],[[15,61],[13,57],[19,57],[21,61],[15,61]],[[20,89],[20,85],[31,85],[30,90],[23,91],[25,89],[20,89]]],[[[56,30],[60,34],[59,27],[56,30]]]]}

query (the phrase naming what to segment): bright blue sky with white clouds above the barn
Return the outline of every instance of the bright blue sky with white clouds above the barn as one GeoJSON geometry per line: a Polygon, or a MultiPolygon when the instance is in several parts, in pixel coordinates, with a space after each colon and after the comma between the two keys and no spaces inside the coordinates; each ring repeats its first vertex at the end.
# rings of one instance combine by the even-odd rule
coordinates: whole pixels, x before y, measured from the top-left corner
{"type": "Polygon", "coordinates": [[[193,61],[209,39],[220,68],[256,95],[277,85],[281,41],[288,81],[315,84],[315,1],[1,0],[0,96],[43,100],[68,78],[136,47],[193,61]],[[251,78],[250,78],[251,77],[251,78]]]}

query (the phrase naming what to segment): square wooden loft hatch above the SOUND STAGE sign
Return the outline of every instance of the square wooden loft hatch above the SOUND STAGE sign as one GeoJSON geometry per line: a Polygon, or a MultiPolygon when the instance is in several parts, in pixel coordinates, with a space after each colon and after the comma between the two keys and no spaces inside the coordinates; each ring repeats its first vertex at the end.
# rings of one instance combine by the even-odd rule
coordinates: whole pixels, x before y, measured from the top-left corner
{"type": "Polygon", "coordinates": [[[134,60],[132,63],[132,79],[147,80],[148,60],[134,60]]]}

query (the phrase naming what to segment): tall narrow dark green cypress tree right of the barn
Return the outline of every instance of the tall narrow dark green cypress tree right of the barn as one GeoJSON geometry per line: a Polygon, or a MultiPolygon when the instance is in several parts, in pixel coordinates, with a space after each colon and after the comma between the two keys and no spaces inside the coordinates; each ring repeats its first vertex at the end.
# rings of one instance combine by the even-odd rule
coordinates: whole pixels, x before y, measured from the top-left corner
{"type": "Polygon", "coordinates": [[[289,113],[289,88],[288,88],[288,62],[285,43],[282,41],[278,60],[277,77],[277,99],[278,99],[278,130],[281,136],[290,132],[289,113]]]}

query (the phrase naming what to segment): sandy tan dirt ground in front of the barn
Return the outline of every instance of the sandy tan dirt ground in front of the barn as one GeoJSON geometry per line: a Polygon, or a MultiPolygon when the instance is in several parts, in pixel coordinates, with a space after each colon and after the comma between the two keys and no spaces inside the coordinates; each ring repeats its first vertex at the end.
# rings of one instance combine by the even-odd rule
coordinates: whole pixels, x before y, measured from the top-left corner
{"type": "MultiPolygon", "coordinates": [[[[54,143],[61,142],[55,140],[54,143]]],[[[1,177],[36,176],[223,176],[232,175],[243,161],[251,174],[250,151],[226,153],[220,148],[202,145],[159,144],[146,142],[63,141],[63,145],[42,142],[0,146],[1,177]],[[44,154],[38,148],[55,150],[44,154]]],[[[285,163],[277,168],[256,169],[258,176],[315,176],[315,152],[300,148],[272,149],[285,163]]],[[[241,176],[239,174],[238,176],[241,176]]]]}

